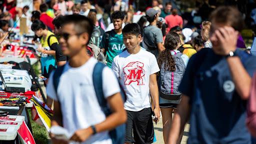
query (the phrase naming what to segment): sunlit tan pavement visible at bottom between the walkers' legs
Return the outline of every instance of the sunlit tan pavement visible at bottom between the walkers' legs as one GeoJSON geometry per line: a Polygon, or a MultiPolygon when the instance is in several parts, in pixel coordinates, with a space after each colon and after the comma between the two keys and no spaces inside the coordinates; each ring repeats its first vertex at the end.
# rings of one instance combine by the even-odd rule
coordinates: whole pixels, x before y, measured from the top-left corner
{"type": "MultiPolygon", "coordinates": [[[[162,118],[157,122],[157,124],[154,123],[154,133],[156,136],[156,142],[154,144],[164,144],[163,136],[162,136],[162,118]]],[[[188,138],[188,131],[189,131],[189,124],[185,125],[184,133],[181,139],[181,144],[185,144],[188,138]]]]}

